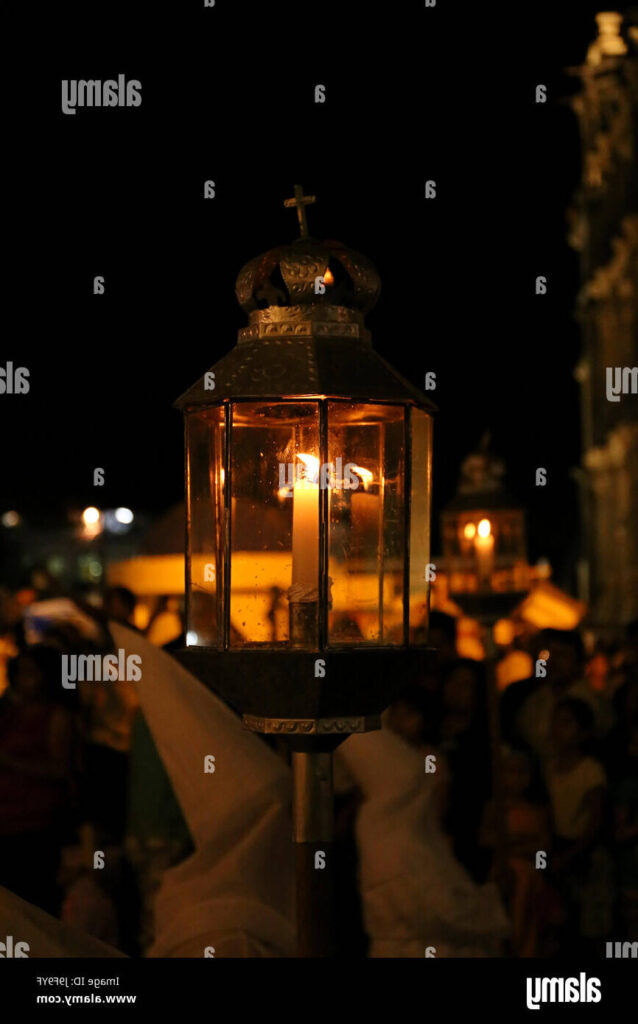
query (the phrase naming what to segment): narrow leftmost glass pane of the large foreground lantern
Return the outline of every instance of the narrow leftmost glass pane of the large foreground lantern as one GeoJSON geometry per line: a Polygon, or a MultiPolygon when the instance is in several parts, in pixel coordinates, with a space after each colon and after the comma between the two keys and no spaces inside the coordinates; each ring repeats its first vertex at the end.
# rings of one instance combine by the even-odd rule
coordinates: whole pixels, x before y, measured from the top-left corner
{"type": "Polygon", "coordinates": [[[224,411],[186,418],[186,643],[223,642],[224,411]]]}

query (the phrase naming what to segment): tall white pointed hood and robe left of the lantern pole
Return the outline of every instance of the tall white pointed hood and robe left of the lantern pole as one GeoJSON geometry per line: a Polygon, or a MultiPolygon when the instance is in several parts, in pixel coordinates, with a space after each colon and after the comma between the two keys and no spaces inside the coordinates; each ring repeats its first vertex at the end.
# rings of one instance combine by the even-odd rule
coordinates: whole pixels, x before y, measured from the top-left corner
{"type": "Polygon", "coordinates": [[[110,629],[117,648],[141,655],[140,706],[196,847],[164,877],[150,955],[293,955],[288,766],[166,651],[110,629]]]}

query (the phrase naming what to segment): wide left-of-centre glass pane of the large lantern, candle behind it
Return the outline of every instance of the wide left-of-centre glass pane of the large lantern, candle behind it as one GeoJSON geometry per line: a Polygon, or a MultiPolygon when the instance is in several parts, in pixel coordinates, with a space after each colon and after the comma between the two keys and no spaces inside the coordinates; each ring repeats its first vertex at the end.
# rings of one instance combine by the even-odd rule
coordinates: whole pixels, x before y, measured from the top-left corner
{"type": "Polygon", "coordinates": [[[318,437],[316,401],[232,406],[231,647],[287,644],[293,591],[312,605],[305,640],[316,644],[318,437]]]}

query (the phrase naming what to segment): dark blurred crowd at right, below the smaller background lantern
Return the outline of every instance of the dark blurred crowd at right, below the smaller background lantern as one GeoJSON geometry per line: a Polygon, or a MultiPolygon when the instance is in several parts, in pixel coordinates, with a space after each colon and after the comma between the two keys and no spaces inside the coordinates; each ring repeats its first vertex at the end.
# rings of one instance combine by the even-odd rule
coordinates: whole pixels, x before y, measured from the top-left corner
{"type": "Polygon", "coordinates": [[[539,632],[531,676],[501,691],[486,677],[498,672],[456,656],[454,620],[434,612],[430,642],[430,671],[388,724],[436,753],[442,827],[472,878],[498,881],[512,954],[602,955],[605,940],[634,941],[638,624],[622,645],[589,655],[578,631],[539,632]]]}

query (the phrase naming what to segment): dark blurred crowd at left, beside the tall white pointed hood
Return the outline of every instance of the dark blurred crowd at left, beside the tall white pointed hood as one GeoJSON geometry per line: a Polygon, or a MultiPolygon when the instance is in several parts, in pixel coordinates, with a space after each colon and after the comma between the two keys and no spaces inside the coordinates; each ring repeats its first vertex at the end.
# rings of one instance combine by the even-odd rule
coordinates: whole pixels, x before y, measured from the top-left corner
{"type": "Polygon", "coordinates": [[[65,654],[88,650],[91,632],[105,640],[100,623],[135,628],[135,597],[123,587],[97,607],[46,592],[3,597],[0,886],[139,954],[153,895],[189,851],[188,830],[134,682],[60,684],[65,654]]]}

